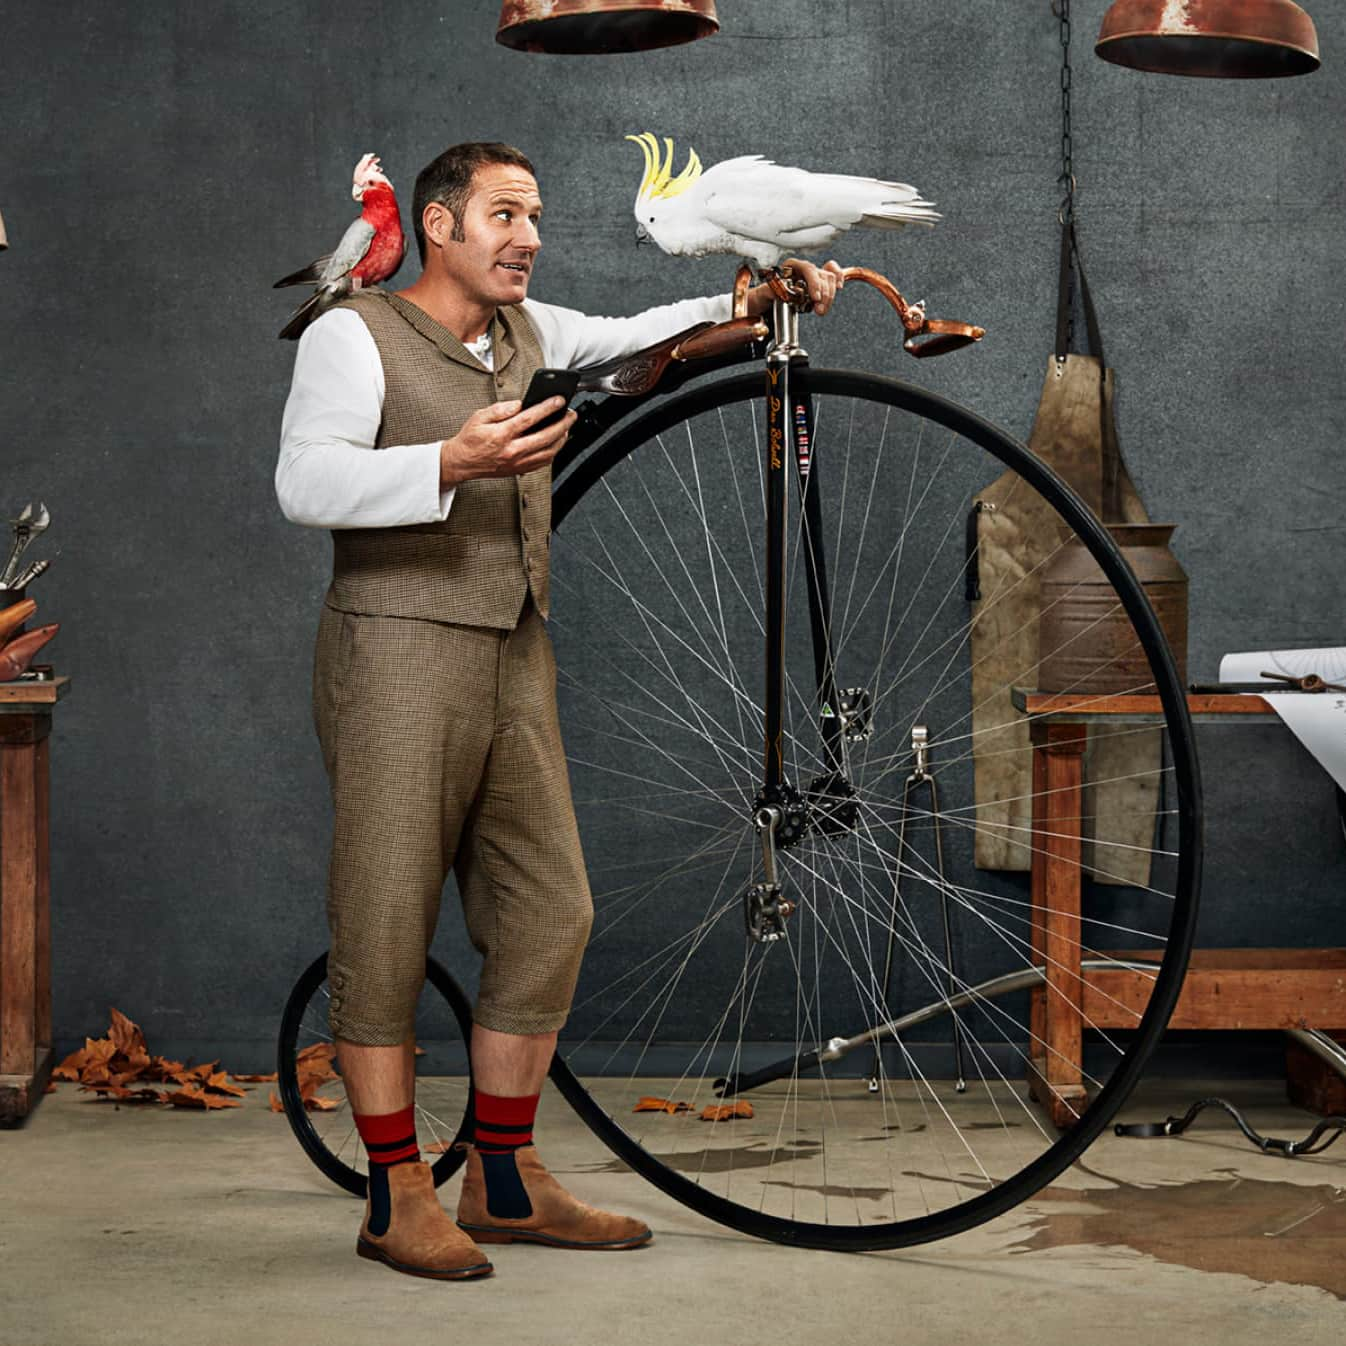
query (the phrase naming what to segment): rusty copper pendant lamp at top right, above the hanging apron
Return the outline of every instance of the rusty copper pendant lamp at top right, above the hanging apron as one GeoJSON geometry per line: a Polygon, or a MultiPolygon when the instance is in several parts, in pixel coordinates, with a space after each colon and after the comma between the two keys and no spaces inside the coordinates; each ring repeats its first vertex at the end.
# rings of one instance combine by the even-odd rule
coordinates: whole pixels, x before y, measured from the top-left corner
{"type": "Polygon", "coordinates": [[[1094,51],[1133,70],[1217,79],[1307,75],[1314,20],[1292,0],[1114,0],[1094,51]]]}

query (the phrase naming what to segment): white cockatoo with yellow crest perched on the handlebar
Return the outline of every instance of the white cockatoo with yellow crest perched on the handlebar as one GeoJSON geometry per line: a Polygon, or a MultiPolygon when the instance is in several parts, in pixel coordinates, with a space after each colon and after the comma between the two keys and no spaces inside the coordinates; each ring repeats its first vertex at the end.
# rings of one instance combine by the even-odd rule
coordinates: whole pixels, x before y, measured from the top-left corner
{"type": "Polygon", "coordinates": [[[848,229],[933,225],[940,214],[915,187],[878,178],[783,168],[760,155],[701,168],[695,149],[673,176],[673,141],[645,131],[627,136],[645,151],[635,197],[635,237],[674,257],[728,253],[759,268],[793,253],[830,248],[848,229]]]}

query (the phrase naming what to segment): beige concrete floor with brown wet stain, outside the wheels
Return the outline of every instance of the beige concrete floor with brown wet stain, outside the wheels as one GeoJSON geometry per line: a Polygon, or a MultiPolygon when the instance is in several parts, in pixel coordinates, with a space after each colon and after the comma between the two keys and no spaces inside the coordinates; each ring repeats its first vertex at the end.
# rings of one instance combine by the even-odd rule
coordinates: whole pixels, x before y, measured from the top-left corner
{"type": "MultiPolygon", "coordinates": [[[[1279,1084],[1164,1081],[1131,1120],[1203,1093],[1302,1136],[1279,1084]]],[[[234,1112],[113,1109],[73,1085],[0,1131],[0,1346],[848,1342],[1184,1346],[1346,1339],[1346,1140],[1259,1154],[1206,1113],[1180,1140],[1102,1137],[1040,1198],[942,1244],[844,1256],[743,1238],[607,1152],[553,1093],[542,1156],[647,1219],[637,1253],[493,1249],[439,1284],[354,1256],[361,1203],[326,1183],[256,1089],[234,1112]],[[1211,1119],[1206,1121],[1206,1119],[1211,1119]]],[[[452,1209],[458,1179],[441,1190],[452,1209]]]]}

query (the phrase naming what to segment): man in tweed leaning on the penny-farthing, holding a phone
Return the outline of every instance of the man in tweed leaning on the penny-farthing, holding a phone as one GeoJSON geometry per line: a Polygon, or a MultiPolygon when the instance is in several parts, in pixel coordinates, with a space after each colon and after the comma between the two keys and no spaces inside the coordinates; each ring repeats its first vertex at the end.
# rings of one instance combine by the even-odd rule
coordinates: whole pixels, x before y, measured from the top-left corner
{"type": "MultiPolygon", "coordinates": [[[[431,163],[413,198],[421,276],[304,332],[276,470],[285,516],[334,541],[314,708],[335,808],[331,1026],[369,1152],[357,1250],[446,1280],[490,1273],[481,1242],[650,1240],[564,1191],[532,1145],[591,903],[542,625],[551,463],[575,413],[545,425],[561,398],[520,400],[534,369],[639,350],[728,319],[731,303],[604,319],[529,300],[541,209],[509,145],[454,145],[431,163]],[[483,956],[456,1225],[420,1162],[412,1053],[450,867],[483,956]]],[[[825,312],[840,268],[791,265],[825,312]]],[[[750,312],[769,306],[765,287],[750,292],[750,312]]]]}

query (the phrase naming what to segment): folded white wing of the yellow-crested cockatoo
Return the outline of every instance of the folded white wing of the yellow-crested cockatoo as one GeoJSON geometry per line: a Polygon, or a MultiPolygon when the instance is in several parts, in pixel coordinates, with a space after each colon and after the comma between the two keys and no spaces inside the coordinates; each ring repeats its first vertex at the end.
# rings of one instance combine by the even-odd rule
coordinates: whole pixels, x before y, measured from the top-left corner
{"type": "Polygon", "coordinates": [[[686,210],[748,238],[800,244],[808,233],[817,238],[810,246],[825,246],[828,229],[835,234],[861,222],[895,229],[940,218],[907,183],[785,168],[759,155],[709,168],[686,192],[686,210]]]}

